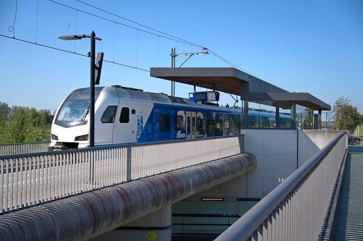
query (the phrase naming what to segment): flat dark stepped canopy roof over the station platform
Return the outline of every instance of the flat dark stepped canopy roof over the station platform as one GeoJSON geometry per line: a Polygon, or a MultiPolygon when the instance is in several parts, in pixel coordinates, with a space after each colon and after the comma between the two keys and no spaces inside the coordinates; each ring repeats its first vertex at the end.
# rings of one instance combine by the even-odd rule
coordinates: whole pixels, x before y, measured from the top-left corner
{"type": "Polygon", "coordinates": [[[313,110],[331,106],[309,93],[288,92],[239,69],[151,67],[150,76],[241,96],[241,100],[290,109],[291,101],[313,110]]]}

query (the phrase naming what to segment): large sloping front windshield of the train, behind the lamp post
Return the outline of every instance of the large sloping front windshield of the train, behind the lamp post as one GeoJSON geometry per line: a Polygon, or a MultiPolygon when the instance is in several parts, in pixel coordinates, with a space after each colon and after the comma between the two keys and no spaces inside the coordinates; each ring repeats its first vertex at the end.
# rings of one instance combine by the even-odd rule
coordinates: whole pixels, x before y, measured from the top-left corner
{"type": "MultiPolygon", "coordinates": [[[[94,100],[104,87],[96,87],[94,100]]],[[[63,102],[56,121],[57,125],[71,127],[87,124],[86,117],[90,112],[90,88],[74,90],[63,102]]]]}

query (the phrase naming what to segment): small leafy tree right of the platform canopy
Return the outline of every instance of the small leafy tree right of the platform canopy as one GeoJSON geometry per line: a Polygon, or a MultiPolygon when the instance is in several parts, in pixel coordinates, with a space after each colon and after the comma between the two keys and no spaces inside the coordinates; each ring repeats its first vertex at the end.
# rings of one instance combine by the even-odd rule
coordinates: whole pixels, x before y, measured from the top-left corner
{"type": "Polygon", "coordinates": [[[339,97],[333,106],[333,128],[337,130],[348,130],[354,132],[357,125],[361,123],[357,107],[352,106],[348,98],[339,97]]]}

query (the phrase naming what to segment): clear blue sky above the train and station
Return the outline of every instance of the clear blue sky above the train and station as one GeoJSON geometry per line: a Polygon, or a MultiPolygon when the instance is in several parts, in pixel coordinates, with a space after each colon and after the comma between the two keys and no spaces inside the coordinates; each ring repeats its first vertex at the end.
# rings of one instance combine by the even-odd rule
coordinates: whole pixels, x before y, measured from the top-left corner
{"type": "MultiPolygon", "coordinates": [[[[15,38],[86,55],[89,39],[62,41],[58,36],[90,34],[94,30],[102,38],[96,42],[96,52],[104,52],[105,60],[147,70],[153,66],[169,67],[171,47],[176,47],[177,53],[201,51],[76,0],[56,1],[114,22],[49,0],[18,0],[15,38]]],[[[309,92],[332,107],[343,95],[363,112],[361,0],[84,1],[208,47],[276,86],[309,92]]],[[[8,28],[13,25],[15,7],[15,0],[0,0],[1,35],[13,36],[8,28]]],[[[0,101],[10,106],[53,112],[69,92],[89,86],[90,60],[86,57],[3,36],[0,55],[0,101]]],[[[177,65],[183,60],[178,57],[177,65]]],[[[183,66],[230,65],[210,54],[193,56],[183,66]]],[[[170,93],[170,82],[151,78],[147,71],[104,62],[101,85],[114,84],[170,93]]],[[[187,97],[192,91],[192,86],[177,83],[177,96],[187,97]]],[[[232,105],[234,101],[222,94],[220,103],[232,105]]]]}

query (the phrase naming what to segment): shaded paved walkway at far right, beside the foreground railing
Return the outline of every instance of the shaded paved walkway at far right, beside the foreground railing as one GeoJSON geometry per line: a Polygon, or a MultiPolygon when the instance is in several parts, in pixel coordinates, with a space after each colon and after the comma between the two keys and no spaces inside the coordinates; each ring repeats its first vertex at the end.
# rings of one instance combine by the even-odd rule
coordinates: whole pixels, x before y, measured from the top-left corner
{"type": "Polygon", "coordinates": [[[349,146],[334,240],[363,240],[363,145],[349,146]]]}

